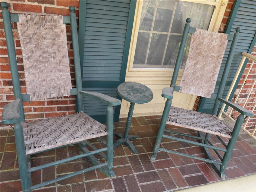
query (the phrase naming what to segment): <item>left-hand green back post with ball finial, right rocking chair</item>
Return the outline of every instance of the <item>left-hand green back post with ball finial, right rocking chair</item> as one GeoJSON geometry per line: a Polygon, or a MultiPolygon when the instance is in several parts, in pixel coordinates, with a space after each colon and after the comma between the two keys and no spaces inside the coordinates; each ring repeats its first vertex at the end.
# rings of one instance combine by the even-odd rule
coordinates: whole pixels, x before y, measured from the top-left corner
{"type": "Polygon", "coordinates": [[[182,38],[181,38],[181,44],[180,44],[179,52],[178,52],[178,55],[177,55],[174,71],[173,71],[173,74],[172,74],[172,81],[171,81],[170,87],[172,87],[176,84],[176,80],[177,80],[178,73],[179,73],[180,66],[181,66],[181,59],[182,59],[182,56],[183,56],[184,48],[185,48],[188,33],[189,33],[191,19],[187,18],[186,22],[187,23],[185,24],[185,27],[184,27],[184,30],[183,30],[183,34],[182,34],[182,38]]]}

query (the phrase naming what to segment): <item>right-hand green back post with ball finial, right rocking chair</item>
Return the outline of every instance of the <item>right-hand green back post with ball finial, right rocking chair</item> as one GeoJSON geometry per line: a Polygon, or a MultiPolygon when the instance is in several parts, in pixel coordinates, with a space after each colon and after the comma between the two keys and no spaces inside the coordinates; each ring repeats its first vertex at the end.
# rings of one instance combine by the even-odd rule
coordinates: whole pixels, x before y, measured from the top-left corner
{"type": "Polygon", "coordinates": [[[220,100],[218,100],[218,98],[222,97],[222,94],[223,94],[223,91],[224,91],[224,88],[225,88],[228,72],[229,72],[229,69],[230,69],[230,66],[231,66],[231,62],[233,60],[233,56],[234,56],[234,52],[235,52],[235,48],[236,48],[236,44],[237,44],[237,41],[238,41],[238,38],[239,38],[239,32],[241,31],[241,28],[237,27],[235,29],[235,31],[236,32],[234,33],[234,38],[233,38],[231,46],[230,46],[227,61],[226,61],[226,64],[225,64],[225,68],[224,68],[222,78],[221,78],[221,81],[220,81],[220,85],[219,85],[219,89],[218,89],[218,92],[217,92],[216,100],[214,102],[214,106],[213,106],[213,109],[212,109],[212,115],[217,115],[218,108],[219,108],[219,105],[220,105],[220,100]]]}

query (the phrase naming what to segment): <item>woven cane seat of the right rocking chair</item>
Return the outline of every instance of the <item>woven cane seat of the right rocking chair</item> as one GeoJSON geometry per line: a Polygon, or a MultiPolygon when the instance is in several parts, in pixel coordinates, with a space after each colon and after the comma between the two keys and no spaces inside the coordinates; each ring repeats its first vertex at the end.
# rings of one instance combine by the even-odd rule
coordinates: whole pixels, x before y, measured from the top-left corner
{"type": "Polygon", "coordinates": [[[215,115],[171,107],[166,124],[231,138],[232,131],[215,115]]]}

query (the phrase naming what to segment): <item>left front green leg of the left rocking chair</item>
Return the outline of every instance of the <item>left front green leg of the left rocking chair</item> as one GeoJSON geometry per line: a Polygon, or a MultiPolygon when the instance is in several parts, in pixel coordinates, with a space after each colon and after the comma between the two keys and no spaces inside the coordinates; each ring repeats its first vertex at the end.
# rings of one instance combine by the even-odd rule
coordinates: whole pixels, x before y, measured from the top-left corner
{"type": "Polygon", "coordinates": [[[15,135],[17,156],[19,161],[22,191],[23,192],[31,191],[27,156],[26,156],[26,150],[25,150],[25,144],[24,144],[24,135],[23,135],[21,122],[14,124],[14,135],[15,135]]]}

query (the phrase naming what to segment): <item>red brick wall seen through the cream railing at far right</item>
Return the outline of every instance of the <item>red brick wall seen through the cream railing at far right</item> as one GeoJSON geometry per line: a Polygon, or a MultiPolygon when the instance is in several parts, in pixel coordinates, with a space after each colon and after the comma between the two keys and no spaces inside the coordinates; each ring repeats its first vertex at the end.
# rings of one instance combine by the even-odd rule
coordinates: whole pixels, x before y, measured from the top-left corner
{"type": "MultiPolygon", "coordinates": [[[[256,44],[254,45],[254,48],[252,50],[252,55],[256,56],[256,44]]],[[[243,71],[243,75],[242,75],[242,77],[239,81],[239,84],[237,85],[237,88],[236,88],[236,91],[234,93],[233,99],[231,100],[232,102],[234,102],[234,100],[238,97],[239,99],[237,100],[236,103],[239,104],[240,106],[243,106],[243,103],[244,103],[246,97],[248,96],[249,90],[252,88],[253,81],[256,78],[256,62],[254,62],[253,66],[252,66],[252,69],[249,71],[249,68],[250,68],[251,65],[252,65],[252,60],[248,60],[248,62],[246,64],[246,67],[243,71]],[[241,86],[242,86],[242,84],[243,84],[244,78],[245,78],[246,74],[248,73],[248,71],[249,71],[249,75],[248,75],[248,77],[245,81],[245,84],[244,84],[244,86],[241,90],[241,93],[239,95],[237,95],[241,86]]],[[[249,98],[248,98],[244,108],[251,111],[255,102],[256,102],[256,85],[254,85],[254,87],[252,89],[252,92],[250,93],[249,98]]],[[[249,119],[249,122],[246,125],[246,129],[254,129],[255,126],[256,126],[256,108],[254,109],[253,113],[255,115],[249,119]]],[[[239,115],[239,113],[234,112],[234,110],[233,110],[231,116],[234,119],[236,119],[238,115],[239,115]]]]}

